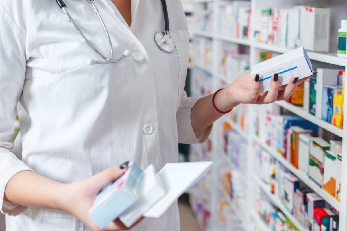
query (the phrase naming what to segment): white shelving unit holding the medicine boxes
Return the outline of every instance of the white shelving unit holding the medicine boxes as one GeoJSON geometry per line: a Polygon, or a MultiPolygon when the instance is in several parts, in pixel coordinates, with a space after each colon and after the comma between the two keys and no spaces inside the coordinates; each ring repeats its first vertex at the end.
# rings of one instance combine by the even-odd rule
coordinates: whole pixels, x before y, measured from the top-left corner
{"type": "MultiPolygon", "coordinates": [[[[252,36],[250,39],[240,39],[240,38],[233,38],[225,35],[221,35],[218,33],[218,5],[223,4],[226,2],[232,2],[231,0],[229,1],[222,1],[222,0],[194,0],[195,6],[193,7],[194,10],[199,9],[199,7],[196,7],[198,5],[202,4],[211,4],[213,6],[213,14],[212,14],[212,33],[206,33],[206,32],[199,32],[199,31],[194,31],[191,32],[191,35],[193,37],[204,37],[208,38],[212,41],[212,67],[211,68],[206,68],[204,66],[198,65],[194,63],[193,59],[193,76],[194,76],[194,70],[203,70],[207,73],[209,73],[212,76],[213,80],[218,80],[218,81],[223,81],[226,84],[230,84],[230,80],[225,78],[223,75],[218,74],[218,48],[219,48],[219,43],[232,43],[232,44],[238,44],[240,46],[246,47],[246,53],[249,54],[250,56],[250,66],[256,64],[256,53],[258,51],[270,51],[270,52],[275,52],[275,53],[285,53],[287,51],[290,51],[291,49],[286,48],[286,47],[279,47],[271,44],[263,44],[256,42],[252,39],[252,36]]],[[[250,35],[253,35],[254,28],[255,28],[255,20],[257,20],[257,13],[260,11],[261,8],[266,8],[266,7],[290,7],[294,5],[313,5],[313,6],[325,6],[325,7],[330,7],[330,15],[331,15],[331,24],[335,25],[331,26],[330,34],[335,33],[337,34],[337,28],[339,28],[340,25],[340,20],[347,18],[345,12],[347,11],[347,2],[345,0],[288,0],[288,1],[278,1],[278,0],[251,0],[251,7],[252,7],[252,13],[251,13],[251,31],[250,35]]],[[[193,14],[194,14],[193,10],[193,14]]],[[[334,42],[333,39],[335,39],[334,36],[331,36],[330,41],[332,43],[334,42]]],[[[335,41],[336,43],[336,41],[335,41]]],[[[321,63],[324,63],[324,67],[335,67],[335,68],[341,68],[341,66],[346,66],[347,62],[346,59],[337,57],[336,53],[331,50],[331,52],[312,52],[312,51],[307,51],[308,56],[310,57],[311,60],[313,61],[318,61],[318,62],[313,62],[314,68],[320,67],[321,63]],[[317,63],[317,64],[315,64],[317,63]]],[[[194,57],[193,57],[194,58],[194,57]]],[[[215,81],[217,82],[217,81],[215,81]]],[[[213,83],[213,88],[212,90],[217,90],[216,87],[214,86],[215,83],[213,83]]],[[[347,89],[347,88],[345,88],[347,89]]],[[[345,96],[345,102],[347,102],[347,95],[345,96]]],[[[347,134],[347,126],[345,128],[339,129],[329,123],[326,123],[315,116],[305,112],[301,107],[294,106],[292,104],[289,104],[284,101],[276,102],[277,105],[279,105],[282,108],[287,109],[288,111],[308,120],[311,121],[312,123],[320,126],[324,130],[327,130],[341,138],[344,137],[344,135],[347,134]]],[[[254,108],[257,107],[255,105],[248,105],[248,118],[252,119],[254,118],[253,113],[254,113],[254,108]]],[[[344,115],[344,121],[347,121],[347,113],[344,115]]],[[[347,230],[347,181],[342,180],[341,182],[341,198],[340,198],[340,203],[336,201],[335,198],[333,198],[330,194],[326,193],[322,188],[320,188],[318,185],[314,183],[310,178],[308,178],[303,172],[299,171],[295,167],[293,167],[289,162],[287,162],[280,154],[278,154],[276,151],[273,151],[268,145],[264,144],[261,142],[261,140],[251,134],[254,133],[254,128],[252,126],[247,126],[248,129],[246,131],[243,131],[240,129],[236,124],[234,124],[229,117],[223,116],[221,118],[223,121],[228,122],[232,129],[235,130],[237,133],[240,134],[247,142],[248,142],[248,153],[247,153],[247,166],[248,169],[250,170],[249,172],[246,172],[246,181],[249,184],[257,184],[259,187],[266,193],[268,194],[271,202],[276,205],[289,219],[291,222],[294,223],[294,225],[297,226],[297,228],[300,231],[306,231],[304,227],[297,222],[297,220],[294,218],[293,215],[291,215],[286,208],[281,204],[280,200],[272,195],[269,192],[269,186],[263,183],[262,180],[259,178],[255,177],[255,172],[252,171],[253,168],[253,143],[259,144],[264,150],[269,152],[274,158],[276,158],[278,161],[280,161],[283,166],[285,166],[289,171],[291,171],[295,176],[297,176],[304,184],[306,184],[308,187],[310,187],[314,192],[319,194],[327,203],[329,203],[331,206],[335,207],[339,212],[340,212],[340,221],[339,221],[339,230],[347,230]]],[[[249,121],[248,124],[252,125],[254,124],[254,121],[249,121]]],[[[213,134],[212,134],[213,137],[213,134]]],[[[347,139],[343,139],[343,146],[347,147],[347,139]]],[[[220,161],[224,161],[226,163],[230,164],[230,160],[223,159],[225,158],[222,154],[220,154],[220,148],[216,147],[215,145],[212,146],[212,159],[218,159],[221,158],[220,161]]],[[[345,148],[343,150],[342,156],[346,158],[342,158],[342,176],[347,176],[347,149],[345,148]]],[[[218,171],[218,169],[213,168],[212,171],[218,171]]],[[[344,179],[345,177],[342,177],[344,179]]],[[[249,187],[251,188],[251,187],[249,187]]],[[[211,197],[216,196],[215,192],[212,192],[211,197]]],[[[255,214],[254,212],[251,212],[252,209],[252,190],[248,190],[247,192],[247,202],[246,202],[246,207],[249,209],[249,214],[246,217],[246,226],[244,227],[245,231],[251,230],[251,221],[256,221],[257,224],[260,224],[257,229],[260,231],[268,231],[269,229],[266,227],[265,223],[262,223],[260,220],[259,216],[255,214]]],[[[213,209],[216,205],[214,204],[215,200],[212,199],[211,201],[211,208],[213,209]]],[[[211,219],[212,222],[210,222],[210,225],[207,230],[209,231],[221,231],[220,225],[218,224],[218,213],[216,211],[216,214],[213,214],[214,211],[211,211],[211,219]]]]}

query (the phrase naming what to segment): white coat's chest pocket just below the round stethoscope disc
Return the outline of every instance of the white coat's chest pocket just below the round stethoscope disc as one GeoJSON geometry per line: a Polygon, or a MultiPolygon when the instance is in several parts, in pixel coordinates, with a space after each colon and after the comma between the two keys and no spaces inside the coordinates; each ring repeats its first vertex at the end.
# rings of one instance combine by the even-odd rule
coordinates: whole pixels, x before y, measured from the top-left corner
{"type": "Polygon", "coordinates": [[[186,75],[189,59],[189,32],[185,30],[170,30],[170,35],[175,42],[179,61],[178,92],[181,96],[186,83],[186,75]]]}

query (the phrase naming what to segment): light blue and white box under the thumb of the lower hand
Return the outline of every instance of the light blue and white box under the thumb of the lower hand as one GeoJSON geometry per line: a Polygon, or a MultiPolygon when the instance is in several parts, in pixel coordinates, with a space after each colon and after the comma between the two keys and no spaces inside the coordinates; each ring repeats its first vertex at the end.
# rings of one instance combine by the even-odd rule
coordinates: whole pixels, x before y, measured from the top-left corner
{"type": "Polygon", "coordinates": [[[128,166],[129,169],[124,175],[96,196],[89,211],[89,217],[100,229],[117,219],[138,200],[143,171],[133,162],[130,162],[128,166]]]}

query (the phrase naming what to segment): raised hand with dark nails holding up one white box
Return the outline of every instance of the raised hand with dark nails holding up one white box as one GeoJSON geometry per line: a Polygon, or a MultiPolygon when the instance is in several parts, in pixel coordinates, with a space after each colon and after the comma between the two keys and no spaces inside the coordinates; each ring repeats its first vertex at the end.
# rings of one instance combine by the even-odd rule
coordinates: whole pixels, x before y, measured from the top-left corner
{"type": "Polygon", "coordinates": [[[302,79],[293,77],[290,78],[287,85],[279,87],[278,75],[273,75],[270,90],[259,93],[259,77],[252,79],[251,70],[247,70],[225,88],[225,93],[231,107],[238,104],[269,104],[277,100],[288,99],[296,87],[308,78],[310,76],[302,79]]]}

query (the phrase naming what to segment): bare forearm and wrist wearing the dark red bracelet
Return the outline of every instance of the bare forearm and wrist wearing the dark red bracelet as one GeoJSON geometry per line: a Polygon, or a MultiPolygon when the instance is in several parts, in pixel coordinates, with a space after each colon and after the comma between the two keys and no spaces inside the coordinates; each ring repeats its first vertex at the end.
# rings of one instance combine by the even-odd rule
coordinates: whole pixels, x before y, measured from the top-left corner
{"type": "MultiPolygon", "coordinates": [[[[203,131],[223,115],[214,109],[212,97],[213,94],[201,98],[192,108],[191,121],[194,133],[203,131]]],[[[230,100],[230,94],[226,88],[216,94],[214,104],[222,112],[227,112],[238,105],[233,100],[230,100]]]]}

